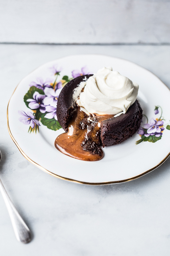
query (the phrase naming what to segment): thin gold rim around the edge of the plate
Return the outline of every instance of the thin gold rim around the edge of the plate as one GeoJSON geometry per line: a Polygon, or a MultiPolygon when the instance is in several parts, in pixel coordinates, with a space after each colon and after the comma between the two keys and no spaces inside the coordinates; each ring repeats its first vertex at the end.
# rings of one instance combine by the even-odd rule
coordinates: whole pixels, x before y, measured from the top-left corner
{"type": "MultiPolygon", "coordinates": [[[[69,55],[70,56],[70,55],[69,55]]],[[[101,55],[101,56],[106,56],[106,55],[101,55]]],[[[108,56],[108,57],[111,57],[111,56],[108,56]]],[[[119,58],[120,59],[120,58],[119,58]]],[[[123,60],[123,59],[122,59],[123,60]]],[[[127,60],[126,60],[127,61],[127,60]]],[[[130,61],[130,62],[132,62],[132,61],[130,61]]],[[[133,63],[133,62],[132,62],[133,63]]],[[[139,67],[141,67],[140,65],[138,65],[138,64],[136,64],[136,63],[134,63],[135,65],[137,65],[137,66],[139,66],[139,67]]],[[[42,66],[42,65],[41,65],[42,66]]],[[[41,67],[41,66],[39,66],[39,67],[41,67]]],[[[142,67],[143,68],[143,67],[142,67]]],[[[37,68],[36,68],[37,69],[37,68]]],[[[35,70],[36,70],[35,69],[35,70]]],[[[145,68],[143,68],[143,69],[145,69],[145,68]]],[[[145,70],[147,70],[147,69],[145,69],[145,70]]],[[[34,71],[34,70],[33,70],[34,71]]],[[[32,71],[32,72],[33,72],[32,71]]],[[[147,70],[148,71],[148,70],[147,70]]],[[[30,74],[32,73],[32,72],[30,72],[30,74]]],[[[153,74],[153,72],[151,72],[151,71],[149,71],[151,74],[153,74]]],[[[153,74],[155,77],[157,77],[155,74],[153,74]]],[[[157,77],[158,78],[158,77],[157,77]]],[[[158,78],[159,79],[159,78],[158,78]]],[[[161,79],[159,79],[160,81],[161,81],[161,79]]],[[[162,82],[162,81],[161,81],[162,82]]],[[[163,83],[163,82],[162,82],[163,83]]],[[[20,84],[20,83],[19,83],[20,84]]],[[[18,84],[18,85],[19,85],[18,84]]],[[[17,85],[17,86],[18,86],[17,85]]],[[[163,83],[163,85],[165,85],[164,83],[163,83]]],[[[168,86],[167,85],[165,85],[166,86],[166,88],[168,88],[168,86]]],[[[17,87],[16,87],[17,88],[17,87]]],[[[15,90],[16,90],[16,88],[15,88],[15,90]]],[[[169,88],[168,88],[169,89],[169,88]]],[[[15,90],[14,90],[14,92],[15,92],[15,90]]],[[[170,90],[170,89],[169,89],[170,90]]],[[[12,96],[13,96],[13,94],[14,94],[14,92],[12,93],[12,96]]],[[[10,99],[9,99],[9,102],[10,102],[10,100],[11,100],[11,98],[12,98],[12,96],[10,97],[10,99]]],[[[153,170],[155,170],[156,168],[158,168],[161,164],[163,164],[164,162],[165,162],[165,160],[170,156],[170,152],[168,153],[168,155],[166,155],[166,157],[165,158],[163,158],[163,160],[160,162],[160,163],[158,163],[156,166],[154,166],[153,168],[150,168],[149,170],[147,170],[147,171],[145,171],[145,172],[143,172],[143,173],[141,173],[141,174],[139,174],[139,175],[137,175],[137,176],[134,176],[134,177],[131,177],[131,178],[128,178],[128,179],[123,179],[123,180],[118,180],[118,181],[109,181],[109,182],[83,182],[83,181],[79,181],[79,180],[75,180],[75,179],[71,179],[71,178],[67,178],[67,177],[62,177],[62,176],[59,176],[59,175],[57,175],[57,174],[54,174],[54,173],[52,173],[51,171],[48,171],[46,168],[44,168],[43,166],[41,166],[41,165],[39,165],[38,163],[35,163],[33,160],[31,160],[23,151],[22,151],[22,149],[20,148],[20,146],[17,144],[17,141],[14,139],[14,137],[13,137],[13,135],[12,135],[12,133],[11,133],[11,131],[10,131],[10,127],[9,127],[9,119],[8,119],[8,107],[9,107],[9,102],[8,102],[8,106],[7,106],[7,126],[8,126],[8,131],[9,131],[9,134],[10,134],[10,136],[11,136],[11,138],[12,138],[12,140],[14,141],[14,143],[16,144],[16,146],[17,146],[17,148],[19,149],[19,151],[21,152],[21,154],[27,159],[27,160],[29,160],[31,163],[33,163],[35,166],[37,166],[37,167],[39,167],[41,170],[43,170],[43,171],[45,171],[46,173],[48,173],[48,174],[50,174],[50,175],[52,175],[52,176],[54,176],[54,177],[57,177],[57,178],[59,178],[59,179],[63,179],[63,180],[67,180],[67,181],[71,181],[71,182],[75,182],[75,183],[79,183],[79,184],[86,184],[86,185],[109,185],[109,184],[118,184],[118,183],[123,183],[123,182],[128,182],[128,181],[131,181],[131,180],[133,180],[133,179],[137,179],[137,178],[139,178],[139,177],[142,177],[143,175],[145,175],[145,174],[147,174],[147,173],[149,173],[149,172],[151,172],[151,171],[153,171],[153,170]]]]}

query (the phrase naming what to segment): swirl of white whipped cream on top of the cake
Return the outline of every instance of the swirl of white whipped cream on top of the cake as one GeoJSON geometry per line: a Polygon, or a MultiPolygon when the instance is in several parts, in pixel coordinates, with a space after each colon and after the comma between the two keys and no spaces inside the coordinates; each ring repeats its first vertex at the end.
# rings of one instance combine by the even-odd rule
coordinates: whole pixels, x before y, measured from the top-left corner
{"type": "Polygon", "coordinates": [[[104,67],[86,82],[81,82],[75,89],[73,98],[87,114],[107,114],[116,117],[125,114],[135,102],[138,88],[139,86],[129,78],[112,71],[111,67],[104,67]]]}

